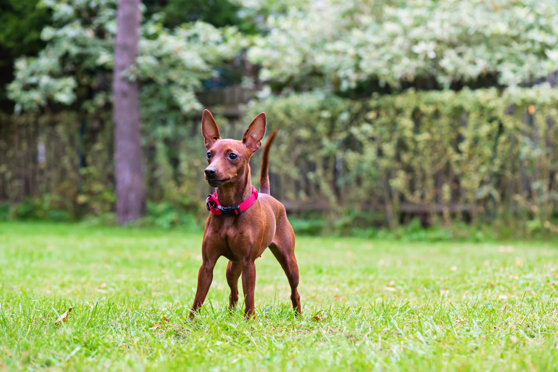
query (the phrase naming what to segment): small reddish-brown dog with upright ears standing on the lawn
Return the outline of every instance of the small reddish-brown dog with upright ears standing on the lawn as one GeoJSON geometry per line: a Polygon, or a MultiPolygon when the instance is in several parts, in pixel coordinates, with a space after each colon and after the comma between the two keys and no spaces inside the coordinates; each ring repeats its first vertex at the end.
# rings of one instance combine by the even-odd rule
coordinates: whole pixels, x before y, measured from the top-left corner
{"type": "Polygon", "coordinates": [[[220,205],[239,205],[253,193],[258,197],[238,216],[209,214],[201,243],[203,263],[198,273],[198,290],[190,318],[203,305],[213,281],[213,268],[221,256],[229,260],[229,309],[238,302],[238,278],[242,274],[242,291],[246,304],[244,315],[247,319],[253,316],[256,287],[254,261],[267,247],[285,271],[291,286],[292,307],[300,313],[300,295],[296,290],[299,285],[299,266],[295,258],[295,233],[288,222],[285,207],[270,195],[269,154],[276,131],[273,131],[263,149],[259,194],[252,191],[248,161],[262,146],[262,138],[266,134],[266,114],[262,112],[256,116],[244,132],[242,141],[237,141],[221,139],[213,116],[205,110],[201,119],[201,133],[208,149],[206,158],[209,165],[205,169],[205,179],[211,187],[217,188],[220,205]]]}

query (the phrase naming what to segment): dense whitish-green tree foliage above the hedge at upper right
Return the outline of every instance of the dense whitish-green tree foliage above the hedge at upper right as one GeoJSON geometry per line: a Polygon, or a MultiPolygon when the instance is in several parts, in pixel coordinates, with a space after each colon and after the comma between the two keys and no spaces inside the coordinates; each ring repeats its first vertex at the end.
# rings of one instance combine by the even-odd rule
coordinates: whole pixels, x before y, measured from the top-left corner
{"type": "Polygon", "coordinates": [[[558,3],[543,0],[304,1],[267,18],[249,51],[262,80],[344,91],[368,80],[441,87],[495,76],[518,85],[558,70],[558,3]]]}

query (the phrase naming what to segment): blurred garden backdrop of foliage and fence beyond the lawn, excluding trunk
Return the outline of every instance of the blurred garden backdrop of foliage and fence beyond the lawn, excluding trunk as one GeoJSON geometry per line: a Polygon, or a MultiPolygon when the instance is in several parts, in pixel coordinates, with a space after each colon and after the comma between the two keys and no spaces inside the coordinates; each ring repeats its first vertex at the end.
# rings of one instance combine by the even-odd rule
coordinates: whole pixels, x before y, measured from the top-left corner
{"type": "MultiPolygon", "coordinates": [[[[201,112],[266,112],[297,233],[558,236],[558,3],[145,0],[143,214],[199,230],[201,112]],[[144,208],[145,207],[145,208],[144,208]]],[[[116,224],[114,0],[0,1],[0,220],[116,224]]],[[[252,180],[259,180],[254,155],[252,180]]]]}

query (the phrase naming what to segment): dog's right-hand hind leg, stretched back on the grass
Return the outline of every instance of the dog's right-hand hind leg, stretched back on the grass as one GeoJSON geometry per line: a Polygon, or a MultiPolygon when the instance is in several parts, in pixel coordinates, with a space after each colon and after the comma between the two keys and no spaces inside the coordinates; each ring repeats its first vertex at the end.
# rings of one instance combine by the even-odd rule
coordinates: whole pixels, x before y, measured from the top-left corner
{"type": "MultiPolygon", "coordinates": [[[[285,220],[287,219],[286,216],[284,218],[285,220]]],[[[281,264],[283,271],[285,271],[288,284],[291,286],[292,308],[300,314],[300,295],[297,290],[299,286],[299,265],[296,263],[295,258],[295,233],[287,221],[280,222],[282,223],[277,224],[275,237],[270,245],[270,251],[281,264]]]]}

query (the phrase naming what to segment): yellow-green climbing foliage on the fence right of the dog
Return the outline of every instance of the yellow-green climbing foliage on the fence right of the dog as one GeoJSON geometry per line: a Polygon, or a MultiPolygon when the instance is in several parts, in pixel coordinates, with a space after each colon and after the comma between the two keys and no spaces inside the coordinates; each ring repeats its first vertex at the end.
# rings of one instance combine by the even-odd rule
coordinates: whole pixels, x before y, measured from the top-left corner
{"type": "Polygon", "coordinates": [[[402,213],[421,213],[427,224],[503,223],[516,233],[535,231],[527,221],[538,219],[550,232],[557,102],[547,85],[362,101],[307,93],[270,97],[248,117],[265,111],[280,130],[271,164],[285,199],[321,204],[330,221],[351,206],[358,218],[370,211],[366,224],[384,211],[392,231],[402,213]]]}

